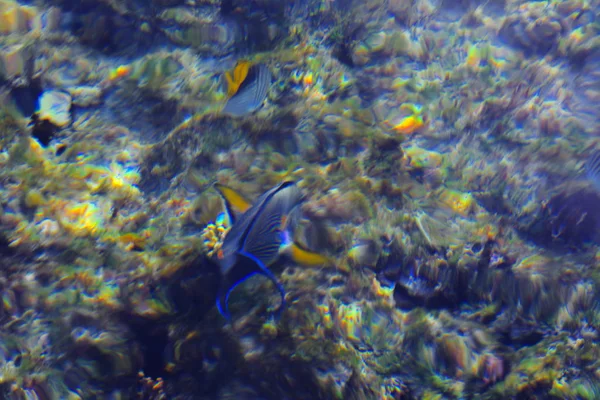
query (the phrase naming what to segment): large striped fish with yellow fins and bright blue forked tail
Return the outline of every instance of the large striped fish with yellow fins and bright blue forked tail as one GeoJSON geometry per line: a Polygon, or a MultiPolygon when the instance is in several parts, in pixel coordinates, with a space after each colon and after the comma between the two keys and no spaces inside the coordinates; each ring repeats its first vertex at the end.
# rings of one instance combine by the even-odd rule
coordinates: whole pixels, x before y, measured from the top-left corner
{"type": "Polygon", "coordinates": [[[285,290],[277,281],[269,266],[282,253],[288,253],[299,264],[316,266],[329,264],[327,257],[312,253],[291,240],[291,228],[299,205],[303,200],[295,182],[286,181],[262,194],[250,204],[235,190],[216,184],[216,190],[225,200],[231,220],[231,230],[225,236],[217,253],[221,284],[217,294],[217,308],[221,315],[231,319],[228,308],[232,290],[255,274],[269,278],[281,294],[285,306],[285,290]],[[235,218],[235,211],[241,213],[235,218]]]}

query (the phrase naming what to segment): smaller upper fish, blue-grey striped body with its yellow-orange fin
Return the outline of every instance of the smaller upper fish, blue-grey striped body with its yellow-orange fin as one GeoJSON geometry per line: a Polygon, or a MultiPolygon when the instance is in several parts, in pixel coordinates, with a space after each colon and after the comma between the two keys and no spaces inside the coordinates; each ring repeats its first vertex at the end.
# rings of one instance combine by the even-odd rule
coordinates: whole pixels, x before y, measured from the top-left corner
{"type": "Polygon", "coordinates": [[[229,100],[223,113],[234,117],[250,114],[263,104],[271,86],[272,75],[265,65],[239,62],[233,72],[225,74],[229,100]]]}

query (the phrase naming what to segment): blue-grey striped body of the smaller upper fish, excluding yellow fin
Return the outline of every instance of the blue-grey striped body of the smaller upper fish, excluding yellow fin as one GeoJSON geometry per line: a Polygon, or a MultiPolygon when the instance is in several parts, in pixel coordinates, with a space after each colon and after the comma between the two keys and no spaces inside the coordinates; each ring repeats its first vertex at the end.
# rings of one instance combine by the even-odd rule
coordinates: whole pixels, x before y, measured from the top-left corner
{"type": "MultiPolygon", "coordinates": [[[[235,70],[233,79],[235,79],[235,70]]],[[[223,113],[241,117],[258,110],[267,98],[271,80],[271,71],[265,65],[252,66],[247,71],[245,79],[240,82],[235,94],[225,104],[223,113]]]]}

